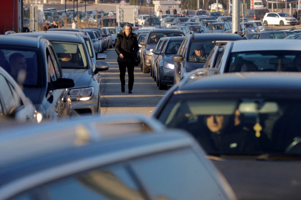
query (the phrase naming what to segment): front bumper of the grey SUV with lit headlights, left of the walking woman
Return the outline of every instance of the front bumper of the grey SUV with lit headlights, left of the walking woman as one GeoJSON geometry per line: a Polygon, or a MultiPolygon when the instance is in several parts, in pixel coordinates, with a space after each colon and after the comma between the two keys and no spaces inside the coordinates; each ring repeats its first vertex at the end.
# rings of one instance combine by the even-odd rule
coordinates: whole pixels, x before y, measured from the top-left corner
{"type": "Polygon", "coordinates": [[[94,115],[98,113],[98,96],[86,101],[72,101],[72,116],[94,115]]]}

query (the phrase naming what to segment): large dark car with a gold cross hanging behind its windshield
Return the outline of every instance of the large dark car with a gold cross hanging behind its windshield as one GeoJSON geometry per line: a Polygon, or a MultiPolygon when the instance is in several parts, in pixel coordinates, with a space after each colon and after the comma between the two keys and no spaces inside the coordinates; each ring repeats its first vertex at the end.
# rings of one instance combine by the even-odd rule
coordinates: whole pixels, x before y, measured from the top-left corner
{"type": "Polygon", "coordinates": [[[299,199],[300,94],[300,73],[193,78],[169,89],[153,117],[190,132],[238,199],[299,199]]]}

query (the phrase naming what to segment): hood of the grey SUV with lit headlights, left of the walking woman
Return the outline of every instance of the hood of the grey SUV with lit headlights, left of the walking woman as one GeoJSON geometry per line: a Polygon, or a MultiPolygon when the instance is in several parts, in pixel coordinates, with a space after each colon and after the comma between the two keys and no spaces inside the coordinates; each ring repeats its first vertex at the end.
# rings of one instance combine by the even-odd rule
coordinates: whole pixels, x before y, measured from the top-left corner
{"type": "Polygon", "coordinates": [[[74,81],[73,88],[88,87],[92,81],[91,70],[87,69],[62,69],[64,77],[74,81]]]}

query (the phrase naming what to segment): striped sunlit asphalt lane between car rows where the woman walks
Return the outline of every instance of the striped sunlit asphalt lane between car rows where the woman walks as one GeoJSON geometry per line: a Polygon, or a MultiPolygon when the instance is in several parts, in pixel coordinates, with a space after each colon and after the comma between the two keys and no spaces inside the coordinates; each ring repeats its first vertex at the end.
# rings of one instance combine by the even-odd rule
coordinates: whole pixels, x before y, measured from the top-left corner
{"type": "Polygon", "coordinates": [[[101,115],[141,114],[150,116],[159,100],[167,90],[159,90],[149,73],[141,72],[140,66],[134,70],[133,93],[128,94],[128,75],[126,73],[126,92],[121,92],[117,54],[114,48],[104,52],[110,69],[101,72],[101,115]]]}

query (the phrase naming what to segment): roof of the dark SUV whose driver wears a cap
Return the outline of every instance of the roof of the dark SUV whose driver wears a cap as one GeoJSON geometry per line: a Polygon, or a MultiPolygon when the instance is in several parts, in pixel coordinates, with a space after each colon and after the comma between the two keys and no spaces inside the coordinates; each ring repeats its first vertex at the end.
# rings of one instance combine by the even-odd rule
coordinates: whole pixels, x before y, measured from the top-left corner
{"type": "Polygon", "coordinates": [[[236,33],[194,33],[194,41],[197,40],[239,40],[244,39],[236,33]]]}

